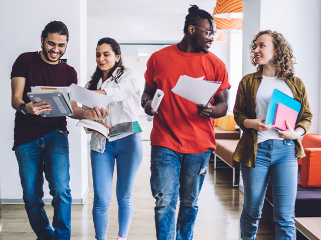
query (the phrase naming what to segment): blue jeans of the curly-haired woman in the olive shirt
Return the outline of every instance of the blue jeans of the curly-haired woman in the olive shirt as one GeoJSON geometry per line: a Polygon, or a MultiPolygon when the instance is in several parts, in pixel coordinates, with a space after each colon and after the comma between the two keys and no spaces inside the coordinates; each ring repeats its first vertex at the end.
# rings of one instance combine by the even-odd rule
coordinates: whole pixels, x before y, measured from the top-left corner
{"type": "Polygon", "coordinates": [[[255,167],[241,164],[244,205],[241,238],[255,238],[267,182],[273,193],[273,220],[276,239],[296,239],[294,205],[297,187],[297,160],[293,140],[266,140],[258,144],[255,167]]]}

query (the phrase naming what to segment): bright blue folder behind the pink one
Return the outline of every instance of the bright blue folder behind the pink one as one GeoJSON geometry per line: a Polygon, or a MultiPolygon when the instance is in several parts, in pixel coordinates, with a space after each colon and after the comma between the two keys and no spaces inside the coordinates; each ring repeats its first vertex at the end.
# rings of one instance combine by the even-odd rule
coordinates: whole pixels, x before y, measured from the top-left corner
{"type": "Polygon", "coordinates": [[[275,88],[273,90],[269,105],[267,107],[265,124],[273,123],[273,116],[276,103],[282,103],[283,105],[292,108],[293,110],[297,111],[297,114],[301,110],[301,103],[298,100],[295,100],[293,97],[290,97],[289,95],[275,88]]]}

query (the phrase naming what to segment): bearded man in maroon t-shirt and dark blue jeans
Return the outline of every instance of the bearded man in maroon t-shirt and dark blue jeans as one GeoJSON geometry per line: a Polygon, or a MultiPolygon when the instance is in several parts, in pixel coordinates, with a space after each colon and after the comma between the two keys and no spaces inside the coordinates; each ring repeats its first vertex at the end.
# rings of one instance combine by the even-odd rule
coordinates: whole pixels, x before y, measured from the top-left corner
{"type": "MultiPolygon", "coordinates": [[[[22,53],[12,72],[12,106],[17,110],[14,146],[19,163],[23,199],[32,229],[39,240],[70,239],[71,195],[69,188],[69,145],[65,116],[42,117],[51,110],[45,102],[32,103],[31,86],[69,86],[77,83],[77,72],[60,58],[69,38],[67,26],[51,21],[41,34],[42,50],[22,53]],[[43,172],[49,182],[54,207],[53,230],[43,197],[43,172]]],[[[75,105],[75,104],[73,104],[75,105]]],[[[74,118],[102,119],[106,110],[73,107],[74,118]]]]}

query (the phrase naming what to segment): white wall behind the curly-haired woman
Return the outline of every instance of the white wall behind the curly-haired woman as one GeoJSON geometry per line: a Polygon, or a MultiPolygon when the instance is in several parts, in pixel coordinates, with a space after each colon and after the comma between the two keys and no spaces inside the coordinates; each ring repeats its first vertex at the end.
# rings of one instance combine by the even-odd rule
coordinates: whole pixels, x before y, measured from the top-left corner
{"type": "Polygon", "coordinates": [[[249,44],[259,30],[281,32],[296,57],[295,75],[305,84],[313,113],[310,133],[320,133],[320,0],[243,0],[243,75],[250,65],[249,44]]]}

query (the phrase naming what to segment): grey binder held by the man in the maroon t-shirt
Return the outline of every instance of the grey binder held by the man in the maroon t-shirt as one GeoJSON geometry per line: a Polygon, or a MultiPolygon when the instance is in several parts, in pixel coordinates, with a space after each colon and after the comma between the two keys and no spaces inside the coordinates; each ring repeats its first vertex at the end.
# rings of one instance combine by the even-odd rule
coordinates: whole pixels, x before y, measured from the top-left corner
{"type": "Polygon", "coordinates": [[[27,93],[33,103],[45,101],[50,104],[51,111],[43,112],[43,117],[52,116],[72,116],[74,113],[71,108],[69,95],[66,91],[33,91],[27,93]]]}

